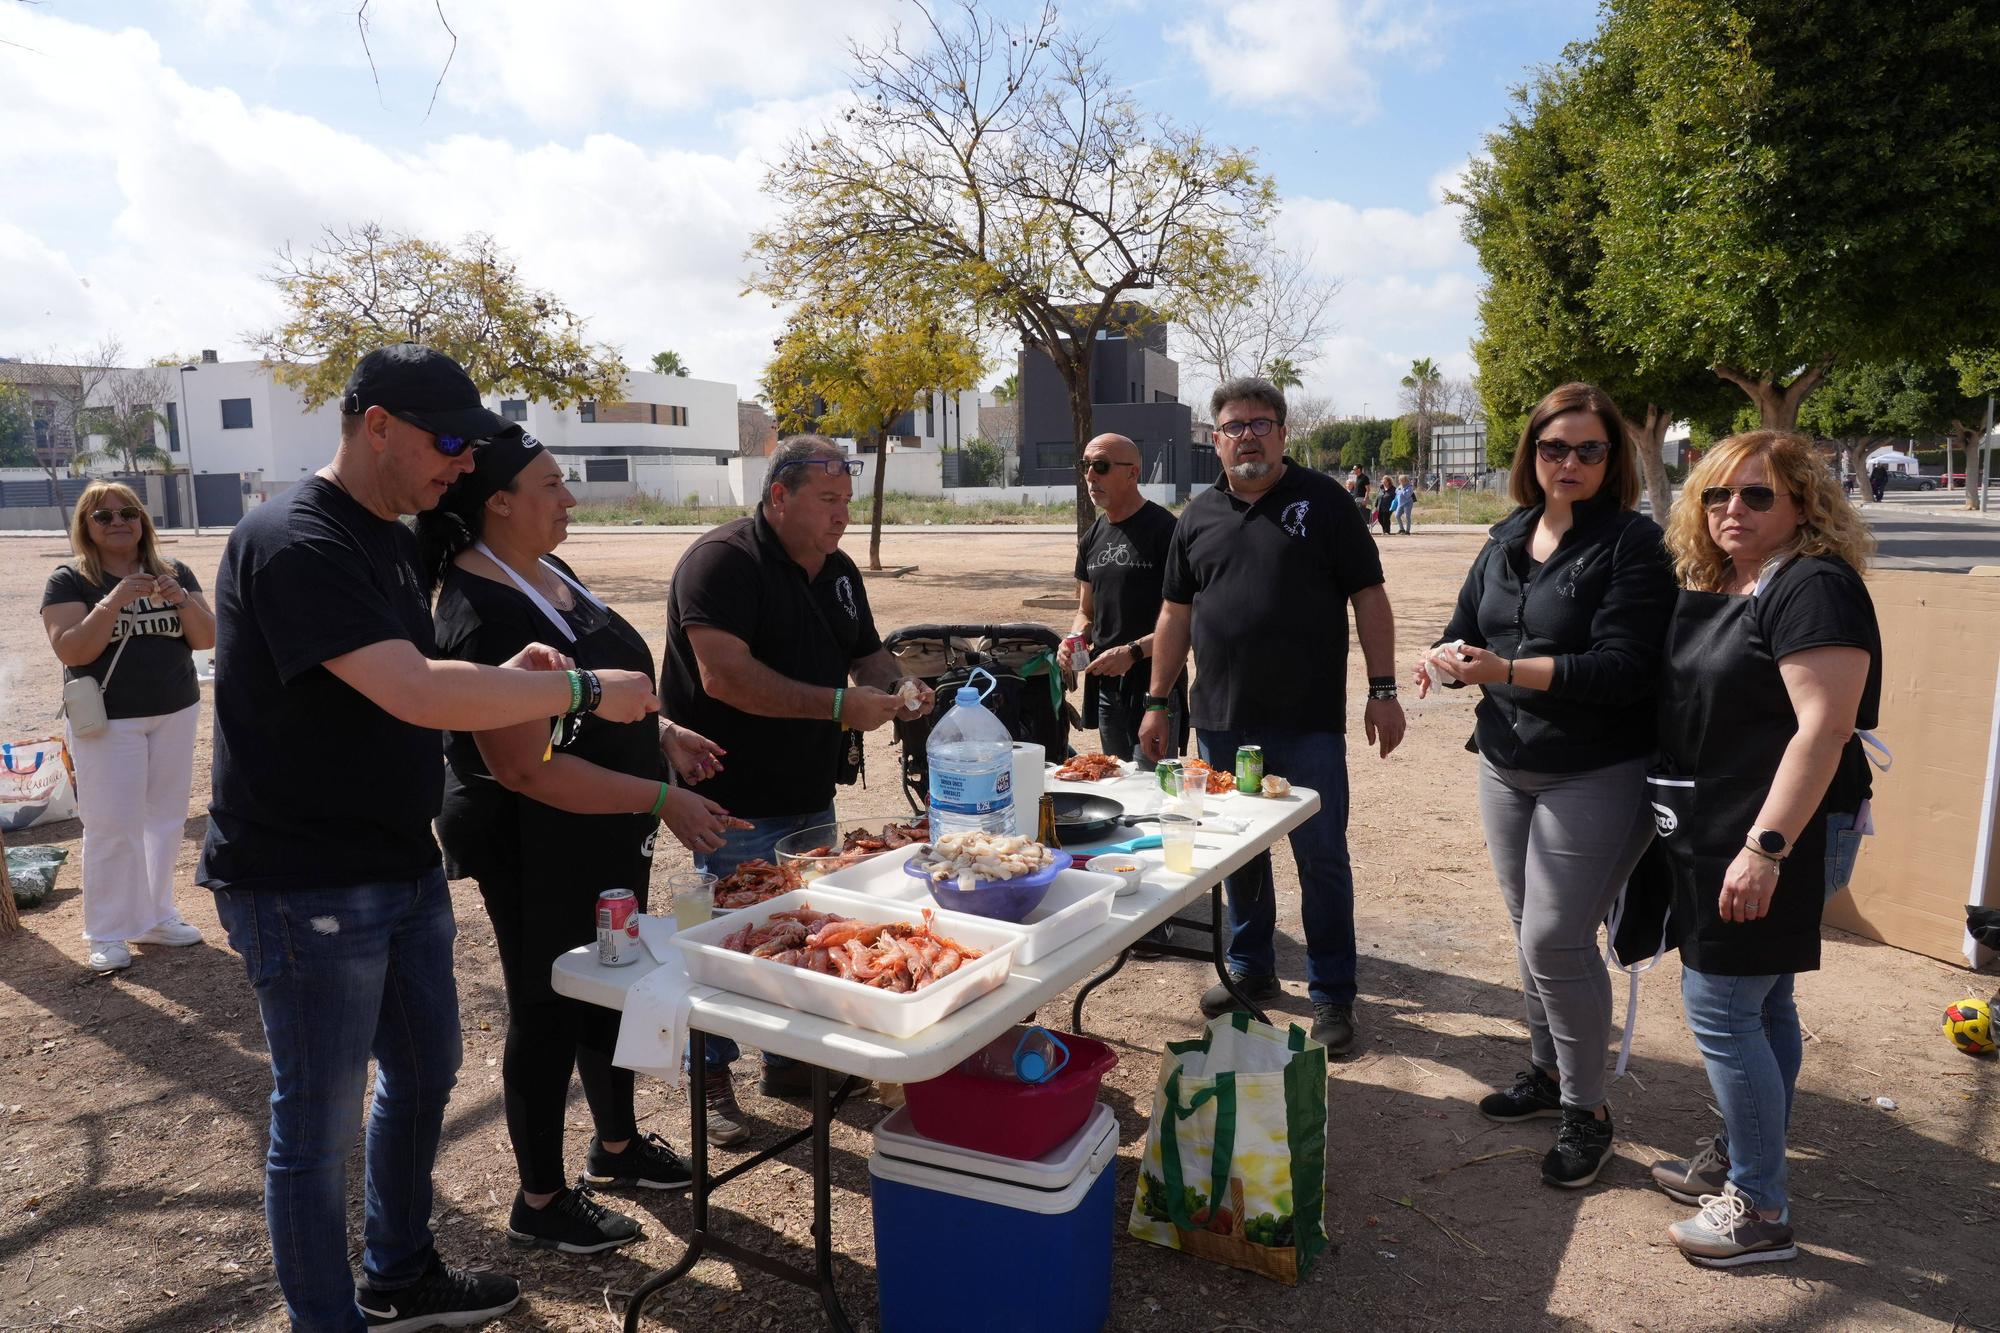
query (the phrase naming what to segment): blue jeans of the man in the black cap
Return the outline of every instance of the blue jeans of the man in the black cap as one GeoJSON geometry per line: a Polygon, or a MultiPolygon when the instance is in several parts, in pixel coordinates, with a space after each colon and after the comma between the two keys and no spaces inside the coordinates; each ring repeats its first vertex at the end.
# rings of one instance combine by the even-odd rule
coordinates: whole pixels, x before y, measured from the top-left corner
{"type": "Polygon", "coordinates": [[[368,1115],[362,1273],[406,1287],[432,1257],[430,1171],[458,1083],[458,987],[444,871],[352,889],[222,889],[270,1047],[264,1219],[292,1327],[366,1329],[348,1269],[348,1151],[368,1115]]]}

